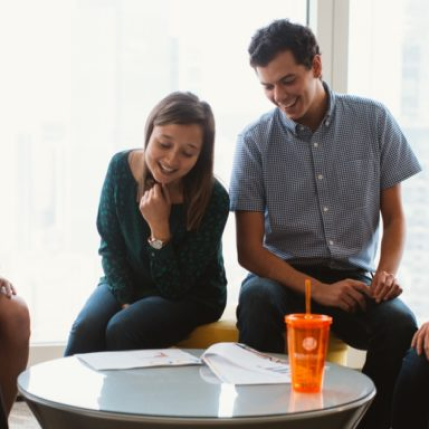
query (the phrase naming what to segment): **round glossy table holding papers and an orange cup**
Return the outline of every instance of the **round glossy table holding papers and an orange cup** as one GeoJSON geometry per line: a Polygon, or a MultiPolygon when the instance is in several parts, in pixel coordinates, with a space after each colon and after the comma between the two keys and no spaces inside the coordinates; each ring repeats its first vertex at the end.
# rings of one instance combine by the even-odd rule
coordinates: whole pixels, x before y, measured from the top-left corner
{"type": "Polygon", "coordinates": [[[30,367],[18,388],[44,429],[351,429],[375,395],[368,377],[333,363],[323,391],[309,394],[221,383],[205,365],[95,371],[76,357],[30,367]]]}

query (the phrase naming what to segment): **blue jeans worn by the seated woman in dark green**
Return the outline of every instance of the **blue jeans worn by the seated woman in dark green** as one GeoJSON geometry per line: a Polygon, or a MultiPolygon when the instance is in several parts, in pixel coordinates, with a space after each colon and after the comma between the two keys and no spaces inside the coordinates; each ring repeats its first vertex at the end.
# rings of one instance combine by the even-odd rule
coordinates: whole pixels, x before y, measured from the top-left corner
{"type": "Polygon", "coordinates": [[[220,316],[190,298],[170,301],[149,296],[122,309],[101,283],[73,323],[64,354],[170,347],[220,316]]]}

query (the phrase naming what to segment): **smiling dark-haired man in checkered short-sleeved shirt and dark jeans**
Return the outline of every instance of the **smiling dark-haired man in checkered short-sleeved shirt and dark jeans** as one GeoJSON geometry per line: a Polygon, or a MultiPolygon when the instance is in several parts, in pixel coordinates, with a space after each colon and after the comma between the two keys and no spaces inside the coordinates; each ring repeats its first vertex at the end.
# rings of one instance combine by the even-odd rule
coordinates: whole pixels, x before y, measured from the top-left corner
{"type": "Polygon", "coordinates": [[[239,341],[284,352],[284,315],[312,309],[368,350],[377,397],[360,427],[390,427],[401,360],[417,329],[397,297],[405,238],[400,183],[420,165],[398,124],[372,100],[338,95],[322,80],[313,33],[288,20],[258,30],[250,64],[276,108],[239,136],[230,184],[240,264],[239,341]],[[380,258],[380,214],[383,224],[380,258]]]}

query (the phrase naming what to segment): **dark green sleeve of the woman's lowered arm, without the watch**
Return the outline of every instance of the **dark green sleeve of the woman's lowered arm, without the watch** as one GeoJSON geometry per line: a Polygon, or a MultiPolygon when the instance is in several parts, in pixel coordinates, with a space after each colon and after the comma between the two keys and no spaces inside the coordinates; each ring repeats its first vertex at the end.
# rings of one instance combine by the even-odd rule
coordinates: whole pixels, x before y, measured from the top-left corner
{"type": "Polygon", "coordinates": [[[116,210],[119,198],[116,184],[121,179],[118,170],[119,155],[112,158],[104,180],[98,207],[97,229],[101,237],[99,254],[107,286],[121,304],[126,304],[131,301],[134,291],[131,267],[126,257],[126,244],[116,210]]]}

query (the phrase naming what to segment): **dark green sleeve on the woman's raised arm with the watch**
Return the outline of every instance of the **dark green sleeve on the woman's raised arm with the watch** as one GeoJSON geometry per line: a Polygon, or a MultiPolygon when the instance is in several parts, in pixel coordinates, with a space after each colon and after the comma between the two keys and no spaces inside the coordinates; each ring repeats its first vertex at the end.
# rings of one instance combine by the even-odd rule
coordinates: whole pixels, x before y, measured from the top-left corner
{"type": "Polygon", "coordinates": [[[216,182],[206,214],[197,230],[155,250],[149,246],[151,277],[161,296],[177,300],[194,287],[210,287],[221,258],[222,234],[229,214],[229,196],[216,182]]]}

